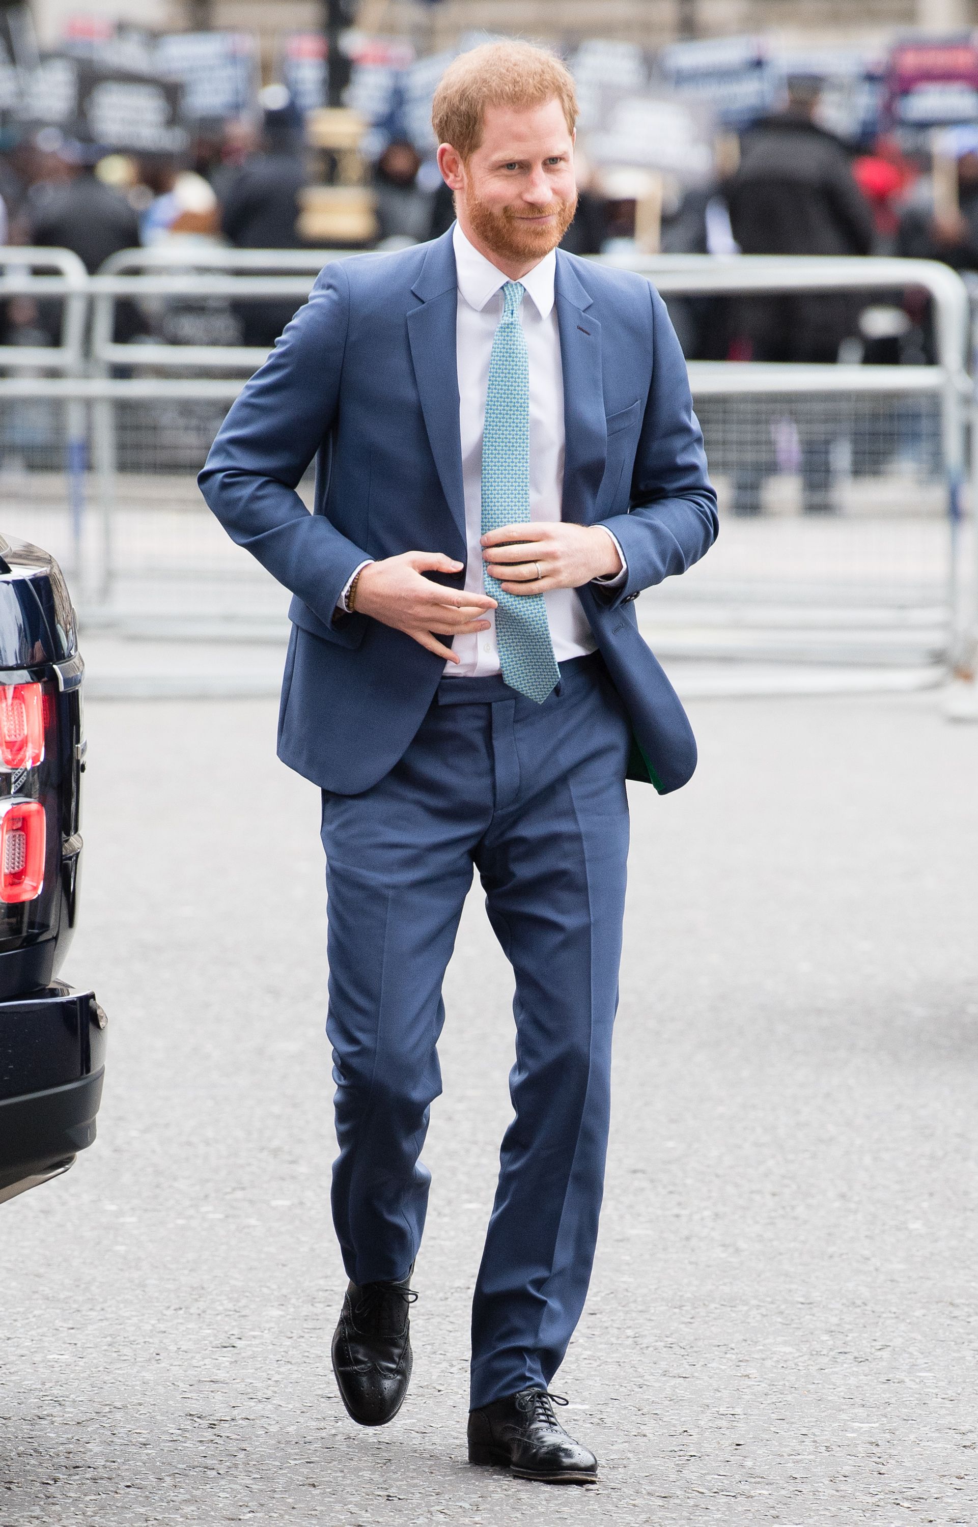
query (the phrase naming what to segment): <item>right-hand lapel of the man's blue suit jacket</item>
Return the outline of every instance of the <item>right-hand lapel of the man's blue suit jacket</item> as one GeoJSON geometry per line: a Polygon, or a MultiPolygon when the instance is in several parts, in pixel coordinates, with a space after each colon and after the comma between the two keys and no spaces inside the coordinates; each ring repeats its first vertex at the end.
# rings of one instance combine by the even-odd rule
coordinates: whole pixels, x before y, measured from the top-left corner
{"type": "Polygon", "coordinates": [[[605,470],[608,426],[601,374],[601,324],[573,263],[556,252],[556,322],[564,374],[564,519],[587,524],[605,470]]]}

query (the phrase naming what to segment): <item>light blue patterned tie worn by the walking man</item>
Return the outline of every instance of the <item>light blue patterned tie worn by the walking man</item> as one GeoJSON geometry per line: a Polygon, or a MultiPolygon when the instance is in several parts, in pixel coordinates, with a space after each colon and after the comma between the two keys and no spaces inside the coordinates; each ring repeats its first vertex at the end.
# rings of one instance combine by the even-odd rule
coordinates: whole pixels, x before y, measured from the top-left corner
{"type": "MultiPolygon", "coordinates": [[[[524,287],[507,281],[504,307],[489,357],[483,434],[483,534],[530,518],[530,376],[520,322],[524,287]]],[[[559,681],[542,594],[504,594],[484,574],[486,592],[498,600],[495,634],[503,680],[542,705],[559,681]]]]}

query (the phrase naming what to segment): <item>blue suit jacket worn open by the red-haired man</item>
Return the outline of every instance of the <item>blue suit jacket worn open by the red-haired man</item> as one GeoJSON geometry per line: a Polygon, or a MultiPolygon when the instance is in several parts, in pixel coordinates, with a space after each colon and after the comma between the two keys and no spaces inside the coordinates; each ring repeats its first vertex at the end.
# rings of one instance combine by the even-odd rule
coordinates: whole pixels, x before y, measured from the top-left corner
{"type": "MultiPolygon", "coordinates": [[[[393,768],[443,670],[403,632],[358,614],[333,623],[333,611],[365,557],[443,551],[466,562],[455,304],[451,231],[327,266],[200,473],[232,541],[293,594],[278,754],[339,794],[393,768]],[[310,515],[295,490],[313,457],[310,515]]],[[[579,594],[631,716],[630,773],[665,793],[692,774],[695,742],[639,635],[634,597],[703,556],[717,496],[686,365],[648,281],[558,250],[556,315],[564,519],[608,525],[628,560],[622,588],[579,594]]],[[[432,576],[465,583],[465,573],[432,576]]]]}

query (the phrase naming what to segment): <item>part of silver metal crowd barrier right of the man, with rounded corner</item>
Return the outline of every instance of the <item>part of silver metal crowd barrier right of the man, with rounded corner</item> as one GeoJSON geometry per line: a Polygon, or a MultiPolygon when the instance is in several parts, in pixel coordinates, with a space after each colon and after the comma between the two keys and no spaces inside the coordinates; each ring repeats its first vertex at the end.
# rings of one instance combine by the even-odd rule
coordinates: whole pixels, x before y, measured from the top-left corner
{"type": "Polygon", "coordinates": [[[692,362],[726,518],[701,567],[646,597],[663,655],[970,675],[973,388],[967,298],[931,261],[678,255],[611,260],[672,298],[931,299],[932,365],[692,362]],[[761,510],[761,513],[758,513],[761,510]],[[740,512],[740,513],[738,513],[740,512]]]}

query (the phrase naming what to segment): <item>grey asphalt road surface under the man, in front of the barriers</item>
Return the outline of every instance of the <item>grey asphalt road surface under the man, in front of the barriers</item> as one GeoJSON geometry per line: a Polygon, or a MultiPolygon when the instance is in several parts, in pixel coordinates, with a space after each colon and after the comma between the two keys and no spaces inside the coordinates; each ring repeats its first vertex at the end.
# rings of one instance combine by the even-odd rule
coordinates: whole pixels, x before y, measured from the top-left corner
{"type": "Polygon", "coordinates": [[[89,707],[99,1141],[0,1208],[0,1527],[978,1521],[978,727],[935,696],[700,701],[633,788],[614,1130],[555,1388],[593,1490],[465,1463],[507,1119],[481,907],[448,979],[416,1377],[329,1368],[322,867],[270,701],[89,707]]]}

